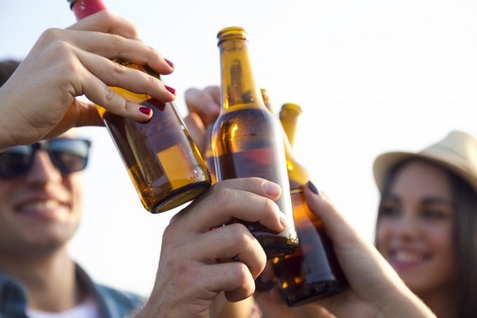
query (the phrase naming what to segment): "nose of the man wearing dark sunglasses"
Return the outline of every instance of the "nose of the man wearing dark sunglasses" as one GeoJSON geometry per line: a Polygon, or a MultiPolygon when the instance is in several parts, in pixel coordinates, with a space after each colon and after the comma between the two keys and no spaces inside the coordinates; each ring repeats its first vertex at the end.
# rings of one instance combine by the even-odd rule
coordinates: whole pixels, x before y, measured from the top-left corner
{"type": "Polygon", "coordinates": [[[48,154],[39,150],[34,154],[32,167],[29,169],[26,182],[33,185],[46,185],[51,182],[60,182],[62,175],[60,171],[53,166],[48,154]]]}

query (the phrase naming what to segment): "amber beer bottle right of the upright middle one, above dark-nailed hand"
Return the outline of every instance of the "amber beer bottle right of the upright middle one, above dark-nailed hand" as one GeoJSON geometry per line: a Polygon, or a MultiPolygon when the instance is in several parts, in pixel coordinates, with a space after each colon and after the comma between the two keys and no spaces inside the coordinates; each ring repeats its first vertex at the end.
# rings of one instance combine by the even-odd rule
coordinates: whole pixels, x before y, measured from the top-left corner
{"type": "MultiPolygon", "coordinates": [[[[293,106],[294,109],[297,107],[299,106],[293,106]]],[[[297,115],[300,114],[281,112],[281,119],[291,123],[287,129],[288,133],[295,134],[297,122],[296,118],[292,120],[288,117],[297,115]]],[[[288,134],[287,136],[292,139],[294,137],[288,134]]],[[[293,306],[339,293],[346,289],[348,284],[321,219],[310,211],[304,197],[304,185],[310,180],[309,173],[293,157],[293,150],[286,138],[284,144],[293,216],[300,244],[294,253],[283,258],[274,258],[273,263],[283,299],[293,306]]]]}

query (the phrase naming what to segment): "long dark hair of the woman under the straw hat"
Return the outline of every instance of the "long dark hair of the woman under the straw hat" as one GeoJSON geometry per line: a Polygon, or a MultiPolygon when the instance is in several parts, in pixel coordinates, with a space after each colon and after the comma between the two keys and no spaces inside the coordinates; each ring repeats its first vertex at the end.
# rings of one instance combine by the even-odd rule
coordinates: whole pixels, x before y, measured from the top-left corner
{"type": "MultiPolygon", "coordinates": [[[[455,286],[457,288],[457,317],[475,317],[477,314],[477,192],[456,173],[438,163],[418,157],[406,159],[389,171],[381,199],[389,193],[397,173],[411,162],[424,162],[443,169],[448,174],[454,201],[453,245],[455,251],[455,286]]],[[[379,206],[381,202],[379,202],[379,206]]],[[[380,208],[377,219],[379,223],[380,208]]]]}

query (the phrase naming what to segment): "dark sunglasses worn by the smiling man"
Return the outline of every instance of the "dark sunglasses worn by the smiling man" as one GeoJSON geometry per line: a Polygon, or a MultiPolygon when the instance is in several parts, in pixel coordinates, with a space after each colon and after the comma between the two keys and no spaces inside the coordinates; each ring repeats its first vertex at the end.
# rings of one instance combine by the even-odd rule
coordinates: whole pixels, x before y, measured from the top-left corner
{"type": "Polygon", "coordinates": [[[55,138],[0,152],[0,178],[15,178],[32,167],[37,150],[45,150],[63,175],[81,171],[88,164],[91,142],[86,139],[55,138]]]}

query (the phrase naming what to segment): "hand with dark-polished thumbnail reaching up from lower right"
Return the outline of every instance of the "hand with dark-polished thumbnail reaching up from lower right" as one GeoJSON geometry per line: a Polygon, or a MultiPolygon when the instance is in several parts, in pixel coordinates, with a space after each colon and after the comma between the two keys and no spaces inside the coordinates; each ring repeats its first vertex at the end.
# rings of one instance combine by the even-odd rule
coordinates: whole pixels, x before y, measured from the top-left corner
{"type": "MultiPolygon", "coordinates": [[[[435,317],[408,289],[374,246],[365,242],[316,187],[305,188],[307,204],[323,220],[350,288],[316,302],[337,317],[435,317]]],[[[278,291],[274,291],[279,298],[278,291]]],[[[294,309],[295,310],[295,309],[294,309]]],[[[299,310],[313,312],[313,305],[299,310]]],[[[318,310],[318,309],[317,309],[318,310]]],[[[314,317],[302,312],[300,317],[314,317]]]]}

